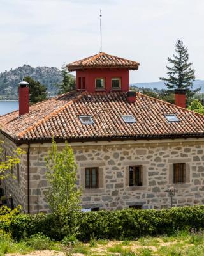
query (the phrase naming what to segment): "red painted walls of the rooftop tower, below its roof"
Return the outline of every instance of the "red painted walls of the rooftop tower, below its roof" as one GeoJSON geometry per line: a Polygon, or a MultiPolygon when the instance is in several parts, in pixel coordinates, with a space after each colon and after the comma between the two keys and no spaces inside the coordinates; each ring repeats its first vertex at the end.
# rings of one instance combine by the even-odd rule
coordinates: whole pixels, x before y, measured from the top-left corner
{"type": "MultiPolygon", "coordinates": [[[[83,88],[87,92],[95,92],[95,79],[97,77],[105,77],[105,91],[110,92],[112,91],[112,78],[113,77],[120,77],[121,78],[121,88],[125,92],[129,91],[129,70],[126,69],[86,69],[80,70],[76,72],[76,79],[77,79],[77,89],[80,90],[83,88]],[[79,78],[81,77],[81,79],[79,78]],[[82,78],[84,77],[84,79],[82,78]],[[83,83],[84,80],[84,83],[83,83]]],[[[98,91],[98,90],[97,90],[98,91]]]]}

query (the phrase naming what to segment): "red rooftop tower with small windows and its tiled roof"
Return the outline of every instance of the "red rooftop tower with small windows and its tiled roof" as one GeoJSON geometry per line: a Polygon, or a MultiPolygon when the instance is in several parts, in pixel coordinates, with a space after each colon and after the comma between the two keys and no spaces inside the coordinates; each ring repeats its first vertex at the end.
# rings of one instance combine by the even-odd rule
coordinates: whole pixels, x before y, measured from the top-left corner
{"type": "Polygon", "coordinates": [[[87,92],[129,91],[129,70],[138,70],[140,63],[100,52],[67,65],[76,71],[77,90],[87,92]]]}

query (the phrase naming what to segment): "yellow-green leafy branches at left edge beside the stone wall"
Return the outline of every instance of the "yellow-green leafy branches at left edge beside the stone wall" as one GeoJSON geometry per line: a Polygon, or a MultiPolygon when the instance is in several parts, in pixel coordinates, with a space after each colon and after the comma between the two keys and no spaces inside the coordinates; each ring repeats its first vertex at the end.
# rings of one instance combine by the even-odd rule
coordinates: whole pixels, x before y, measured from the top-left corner
{"type": "Polygon", "coordinates": [[[11,173],[12,168],[20,163],[20,155],[24,153],[20,148],[17,148],[17,150],[13,151],[13,156],[6,156],[4,161],[4,154],[3,154],[3,148],[1,145],[3,144],[3,141],[0,141],[0,180],[6,179],[8,177],[15,176],[11,173]]]}

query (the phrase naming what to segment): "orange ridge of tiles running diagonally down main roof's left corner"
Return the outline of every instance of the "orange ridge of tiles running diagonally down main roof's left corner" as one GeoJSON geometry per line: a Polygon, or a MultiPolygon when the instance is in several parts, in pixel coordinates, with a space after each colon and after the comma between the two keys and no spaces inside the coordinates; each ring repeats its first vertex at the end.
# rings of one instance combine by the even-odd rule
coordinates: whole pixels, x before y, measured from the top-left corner
{"type": "MultiPolygon", "coordinates": [[[[27,132],[31,131],[32,129],[34,129],[35,127],[37,127],[38,125],[42,124],[42,122],[46,122],[50,117],[54,117],[55,115],[57,115],[60,111],[62,111],[62,109],[66,108],[67,106],[71,105],[71,103],[73,102],[77,102],[78,99],[80,99],[82,97],[82,95],[84,95],[87,92],[82,92],[80,93],[80,95],[77,95],[77,97],[75,97],[75,99],[71,99],[69,100],[68,103],[66,103],[64,106],[62,106],[61,108],[53,111],[52,113],[50,113],[49,115],[45,116],[44,118],[41,118],[38,122],[34,123],[33,125],[27,127],[27,129],[25,129],[24,131],[18,133],[18,138],[21,136],[24,136],[24,134],[26,134],[27,132]]],[[[64,93],[66,94],[66,93],[64,93]]]]}

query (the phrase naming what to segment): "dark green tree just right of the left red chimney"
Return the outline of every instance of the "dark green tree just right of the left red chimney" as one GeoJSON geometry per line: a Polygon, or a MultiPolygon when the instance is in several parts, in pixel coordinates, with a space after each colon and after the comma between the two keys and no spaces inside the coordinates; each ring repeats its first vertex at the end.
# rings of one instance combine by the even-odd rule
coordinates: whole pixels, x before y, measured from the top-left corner
{"type": "Polygon", "coordinates": [[[29,83],[29,100],[31,104],[47,99],[47,88],[30,76],[25,76],[24,81],[29,83]]]}

